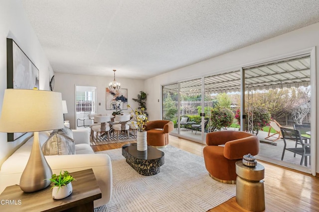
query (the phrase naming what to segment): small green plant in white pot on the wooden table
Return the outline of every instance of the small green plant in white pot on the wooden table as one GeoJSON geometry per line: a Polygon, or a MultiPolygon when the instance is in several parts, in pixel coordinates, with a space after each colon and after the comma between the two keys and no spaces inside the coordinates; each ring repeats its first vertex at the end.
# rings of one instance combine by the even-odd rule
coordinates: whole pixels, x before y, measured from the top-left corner
{"type": "Polygon", "coordinates": [[[71,182],[75,180],[68,171],[60,171],[59,175],[53,174],[49,179],[51,181],[52,197],[53,199],[60,200],[66,198],[72,193],[71,182]]]}

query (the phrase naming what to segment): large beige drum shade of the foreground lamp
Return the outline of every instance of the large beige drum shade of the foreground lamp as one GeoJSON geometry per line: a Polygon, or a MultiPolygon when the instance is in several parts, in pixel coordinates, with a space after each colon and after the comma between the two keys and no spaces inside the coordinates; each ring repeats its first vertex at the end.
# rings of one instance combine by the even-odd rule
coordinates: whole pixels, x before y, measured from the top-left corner
{"type": "Polygon", "coordinates": [[[5,89],[0,132],[24,133],[61,129],[61,93],[45,90],[5,89]]]}

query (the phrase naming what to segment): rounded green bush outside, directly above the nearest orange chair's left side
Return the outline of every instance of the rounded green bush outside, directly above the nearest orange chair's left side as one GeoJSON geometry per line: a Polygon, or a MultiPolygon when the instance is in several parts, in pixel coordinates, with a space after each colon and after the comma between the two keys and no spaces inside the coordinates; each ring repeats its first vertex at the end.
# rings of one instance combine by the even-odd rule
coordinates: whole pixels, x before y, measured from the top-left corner
{"type": "Polygon", "coordinates": [[[234,120],[234,113],[226,107],[215,107],[211,109],[208,126],[211,131],[229,127],[234,120]]]}

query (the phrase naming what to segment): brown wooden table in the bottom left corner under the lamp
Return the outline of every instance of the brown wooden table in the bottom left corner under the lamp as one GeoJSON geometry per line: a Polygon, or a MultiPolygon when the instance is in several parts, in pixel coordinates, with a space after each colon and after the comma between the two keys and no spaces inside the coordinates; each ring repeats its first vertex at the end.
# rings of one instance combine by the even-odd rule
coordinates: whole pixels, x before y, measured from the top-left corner
{"type": "Polygon", "coordinates": [[[18,185],[8,186],[0,195],[1,212],[93,212],[93,201],[102,193],[92,169],[71,173],[73,192],[70,196],[54,200],[51,186],[25,193],[18,185]],[[5,204],[7,201],[7,204],[5,204]]]}

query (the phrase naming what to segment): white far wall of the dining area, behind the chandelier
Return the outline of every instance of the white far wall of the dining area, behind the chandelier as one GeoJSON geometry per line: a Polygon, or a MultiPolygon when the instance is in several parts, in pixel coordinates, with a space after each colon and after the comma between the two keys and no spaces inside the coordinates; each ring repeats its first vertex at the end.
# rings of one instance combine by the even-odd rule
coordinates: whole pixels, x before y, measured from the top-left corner
{"type": "MultiPolygon", "coordinates": [[[[75,129],[75,86],[96,86],[97,87],[97,102],[101,105],[97,106],[97,113],[112,113],[112,110],[106,110],[106,88],[113,80],[113,77],[93,76],[93,75],[76,75],[55,73],[54,91],[62,93],[62,99],[66,100],[68,113],[65,114],[65,120],[70,121],[70,127],[75,129]]],[[[141,90],[144,90],[144,80],[118,78],[116,80],[121,83],[122,88],[128,89],[128,104],[132,108],[137,108],[138,103],[132,98],[137,98],[141,90]]],[[[123,113],[128,113],[131,110],[123,110],[123,113]]]]}

